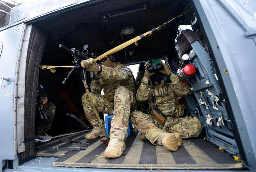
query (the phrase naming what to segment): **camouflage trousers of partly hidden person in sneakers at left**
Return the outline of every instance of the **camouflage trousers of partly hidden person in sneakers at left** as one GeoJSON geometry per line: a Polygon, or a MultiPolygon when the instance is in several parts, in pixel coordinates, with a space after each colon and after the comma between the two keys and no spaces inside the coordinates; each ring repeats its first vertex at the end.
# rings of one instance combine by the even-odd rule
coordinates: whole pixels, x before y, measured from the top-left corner
{"type": "Polygon", "coordinates": [[[55,114],[55,105],[53,103],[46,103],[43,106],[43,111],[47,116],[47,119],[36,119],[36,135],[43,135],[50,130],[52,121],[55,114]]]}

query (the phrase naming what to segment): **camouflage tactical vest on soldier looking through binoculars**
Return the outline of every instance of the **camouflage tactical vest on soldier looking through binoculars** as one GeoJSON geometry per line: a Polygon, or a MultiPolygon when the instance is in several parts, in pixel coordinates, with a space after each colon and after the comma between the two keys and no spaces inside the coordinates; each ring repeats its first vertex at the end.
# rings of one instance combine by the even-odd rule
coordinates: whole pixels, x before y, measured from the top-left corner
{"type": "MultiPolygon", "coordinates": [[[[166,116],[178,116],[177,110],[177,96],[172,89],[171,83],[162,82],[160,85],[151,86],[150,92],[150,104],[151,107],[154,104],[166,115],[166,116]],[[155,97],[155,98],[153,98],[155,97]]],[[[152,109],[152,108],[151,108],[152,109]]],[[[152,110],[151,110],[152,111],[152,110]]]]}

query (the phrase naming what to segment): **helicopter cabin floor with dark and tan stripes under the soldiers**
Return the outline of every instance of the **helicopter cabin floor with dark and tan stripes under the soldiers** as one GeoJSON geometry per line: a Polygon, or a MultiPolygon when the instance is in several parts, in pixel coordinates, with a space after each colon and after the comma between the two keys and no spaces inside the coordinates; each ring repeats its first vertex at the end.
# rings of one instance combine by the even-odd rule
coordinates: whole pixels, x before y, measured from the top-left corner
{"type": "Polygon", "coordinates": [[[120,158],[104,158],[106,144],[84,139],[84,133],[65,136],[36,145],[37,156],[60,157],[53,166],[129,169],[239,169],[242,163],[212,146],[202,138],[183,140],[178,150],[141,141],[134,131],[126,139],[126,150],[120,158]]]}

